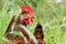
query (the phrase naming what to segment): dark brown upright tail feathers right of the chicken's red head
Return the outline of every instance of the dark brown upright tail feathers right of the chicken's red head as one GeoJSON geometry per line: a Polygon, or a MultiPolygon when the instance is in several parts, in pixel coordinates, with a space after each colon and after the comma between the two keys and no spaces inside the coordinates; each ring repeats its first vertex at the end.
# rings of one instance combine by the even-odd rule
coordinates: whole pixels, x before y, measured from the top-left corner
{"type": "Polygon", "coordinates": [[[44,34],[43,34],[43,28],[40,23],[37,23],[35,28],[34,35],[38,42],[38,44],[44,44],[44,34]]]}

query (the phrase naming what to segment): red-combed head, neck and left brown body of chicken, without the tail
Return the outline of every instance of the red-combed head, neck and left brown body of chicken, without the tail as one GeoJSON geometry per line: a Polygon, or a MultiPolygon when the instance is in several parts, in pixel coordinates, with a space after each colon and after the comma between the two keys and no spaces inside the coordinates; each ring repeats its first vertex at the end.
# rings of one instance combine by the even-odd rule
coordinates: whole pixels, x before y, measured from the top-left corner
{"type": "MultiPolygon", "coordinates": [[[[12,18],[6,33],[11,32],[12,30],[21,31],[24,34],[24,36],[26,37],[26,44],[30,44],[30,36],[28,35],[28,33],[24,30],[22,30],[22,28],[19,26],[19,24],[22,24],[24,26],[32,24],[35,13],[34,13],[33,9],[29,6],[22,6],[21,10],[22,10],[21,14],[19,14],[18,16],[14,15],[12,18]]],[[[20,36],[14,37],[12,34],[8,34],[6,37],[8,40],[12,41],[14,44],[25,44],[23,37],[20,37],[20,36]]],[[[4,42],[4,44],[8,44],[8,43],[4,42]]]]}

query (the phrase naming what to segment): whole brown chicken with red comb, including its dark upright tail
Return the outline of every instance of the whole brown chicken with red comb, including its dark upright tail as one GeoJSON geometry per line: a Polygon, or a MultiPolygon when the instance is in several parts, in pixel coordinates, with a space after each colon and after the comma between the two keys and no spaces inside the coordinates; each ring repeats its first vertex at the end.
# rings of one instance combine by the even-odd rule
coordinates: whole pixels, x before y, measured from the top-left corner
{"type": "MultiPolygon", "coordinates": [[[[35,44],[33,40],[30,38],[29,34],[20,26],[20,24],[24,26],[32,24],[35,13],[33,9],[31,9],[29,6],[22,6],[21,10],[22,10],[21,14],[19,14],[18,16],[14,15],[12,18],[7,29],[6,33],[8,34],[6,35],[6,37],[10,40],[13,44],[35,44]],[[13,36],[13,34],[10,34],[11,31],[22,32],[26,38],[26,42],[22,36],[19,36],[19,35],[13,36]]],[[[33,35],[36,37],[38,44],[44,44],[44,35],[43,35],[41,24],[36,25],[35,32],[33,35]]],[[[4,44],[8,44],[8,42],[4,42],[4,44]]]]}

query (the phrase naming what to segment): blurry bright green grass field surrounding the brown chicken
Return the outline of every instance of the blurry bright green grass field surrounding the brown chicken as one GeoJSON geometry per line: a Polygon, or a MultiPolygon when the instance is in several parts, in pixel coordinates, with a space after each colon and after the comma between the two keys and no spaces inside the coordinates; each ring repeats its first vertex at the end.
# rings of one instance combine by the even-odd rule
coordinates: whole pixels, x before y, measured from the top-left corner
{"type": "Polygon", "coordinates": [[[0,0],[0,44],[13,15],[20,13],[22,4],[31,6],[36,18],[29,28],[32,32],[37,22],[43,25],[46,44],[66,44],[66,0],[0,0]]]}

